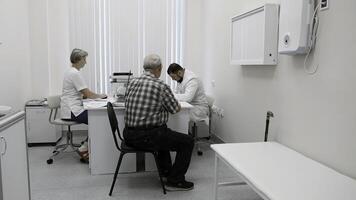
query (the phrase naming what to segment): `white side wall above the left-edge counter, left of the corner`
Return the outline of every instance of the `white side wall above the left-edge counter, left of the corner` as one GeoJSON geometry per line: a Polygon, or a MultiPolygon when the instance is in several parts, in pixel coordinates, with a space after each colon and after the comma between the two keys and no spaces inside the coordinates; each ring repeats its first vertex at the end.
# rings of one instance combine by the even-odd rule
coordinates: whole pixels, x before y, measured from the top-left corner
{"type": "Polygon", "coordinates": [[[23,109],[31,94],[27,0],[0,1],[0,105],[23,109]]]}

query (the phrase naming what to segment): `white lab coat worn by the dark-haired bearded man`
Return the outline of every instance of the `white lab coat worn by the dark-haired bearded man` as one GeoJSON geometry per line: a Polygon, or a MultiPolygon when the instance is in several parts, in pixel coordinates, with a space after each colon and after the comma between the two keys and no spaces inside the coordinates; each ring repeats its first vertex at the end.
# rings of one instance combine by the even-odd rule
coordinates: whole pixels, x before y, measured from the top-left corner
{"type": "Polygon", "coordinates": [[[190,111],[192,121],[208,118],[209,107],[203,84],[192,71],[185,69],[183,81],[177,84],[174,96],[178,101],[186,101],[194,106],[190,111]]]}

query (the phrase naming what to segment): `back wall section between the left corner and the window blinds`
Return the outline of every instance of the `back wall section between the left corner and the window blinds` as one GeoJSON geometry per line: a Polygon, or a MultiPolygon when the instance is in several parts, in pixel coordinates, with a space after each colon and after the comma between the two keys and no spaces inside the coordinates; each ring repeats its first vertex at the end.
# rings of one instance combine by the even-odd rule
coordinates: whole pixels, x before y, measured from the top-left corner
{"type": "Polygon", "coordinates": [[[69,19],[67,1],[31,0],[31,98],[62,91],[63,73],[69,62],[69,19]]]}

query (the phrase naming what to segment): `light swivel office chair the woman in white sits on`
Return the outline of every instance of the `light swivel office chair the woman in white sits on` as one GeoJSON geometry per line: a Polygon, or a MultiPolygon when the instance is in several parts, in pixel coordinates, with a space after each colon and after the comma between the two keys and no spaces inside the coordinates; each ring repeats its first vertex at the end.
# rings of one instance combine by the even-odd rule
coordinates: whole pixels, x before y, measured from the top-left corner
{"type": "Polygon", "coordinates": [[[60,95],[50,96],[50,97],[47,98],[48,107],[51,109],[48,121],[49,121],[49,123],[54,124],[54,125],[67,126],[68,127],[68,131],[65,132],[65,133],[62,132],[62,137],[57,142],[57,145],[54,147],[52,155],[47,160],[47,164],[52,164],[53,163],[53,158],[55,156],[57,156],[59,153],[65,152],[68,148],[71,148],[71,151],[66,151],[66,152],[76,152],[78,147],[80,147],[80,144],[74,144],[73,143],[73,133],[71,131],[71,126],[78,125],[79,123],[74,122],[74,121],[65,121],[65,120],[62,120],[60,118],[57,118],[57,111],[58,111],[58,108],[60,107],[60,102],[61,102],[61,96],[60,95]],[[59,144],[60,141],[64,137],[66,138],[66,143],[59,144]]]}

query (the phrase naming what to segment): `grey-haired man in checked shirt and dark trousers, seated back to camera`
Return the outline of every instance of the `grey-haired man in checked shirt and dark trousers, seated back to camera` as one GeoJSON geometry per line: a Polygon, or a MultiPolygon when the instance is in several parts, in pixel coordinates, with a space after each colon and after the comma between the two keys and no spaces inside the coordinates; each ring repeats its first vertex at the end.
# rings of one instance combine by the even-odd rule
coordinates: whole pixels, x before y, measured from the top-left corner
{"type": "Polygon", "coordinates": [[[144,59],[144,73],[133,80],[127,88],[125,100],[124,138],[128,145],[158,150],[159,167],[167,177],[167,190],[191,190],[192,182],[185,180],[194,147],[193,139],[169,129],[166,125],[169,113],[177,113],[179,102],[162,80],[161,59],[148,55],[144,59]],[[169,151],[176,151],[172,165],[169,151]]]}

